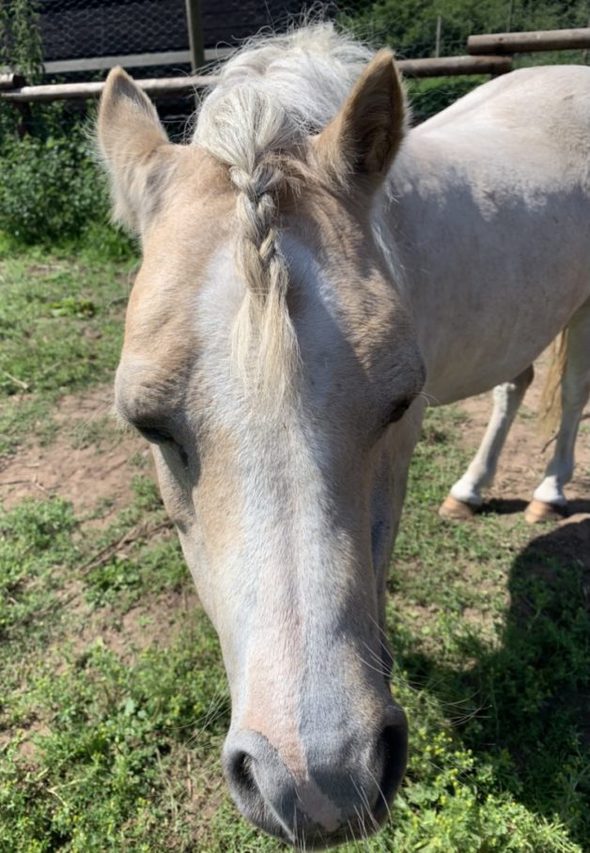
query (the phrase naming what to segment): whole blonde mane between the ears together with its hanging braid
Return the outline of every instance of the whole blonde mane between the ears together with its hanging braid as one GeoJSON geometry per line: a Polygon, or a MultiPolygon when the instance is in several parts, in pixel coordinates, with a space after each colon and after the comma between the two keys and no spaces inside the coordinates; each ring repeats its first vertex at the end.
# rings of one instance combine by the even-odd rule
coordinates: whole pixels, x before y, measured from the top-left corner
{"type": "Polygon", "coordinates": [[[287,309],[289,273],[278,245],[281,164],[336,115],[371,52],[316,24],[255,39],[220,69],[193,142],[228,166],[237,190],[238,269],[246,283],[232,329],[240,373],[280,399],[299,354],[287,309]]]}

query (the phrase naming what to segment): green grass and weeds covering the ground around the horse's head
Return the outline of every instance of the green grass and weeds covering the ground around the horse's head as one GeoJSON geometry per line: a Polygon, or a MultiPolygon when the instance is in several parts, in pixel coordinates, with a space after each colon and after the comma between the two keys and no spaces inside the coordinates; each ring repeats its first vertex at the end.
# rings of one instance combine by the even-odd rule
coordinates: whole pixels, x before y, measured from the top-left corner
{"type": "MultiPolygon", "coordinates": [[[[57,398],[112,373],[129,265],[1,260],[2,367],[29,386],[2,385],[2,417],[15,418],[4,452],[51,441],[57,398]]],[[[465,462],[461,427],[453,409],[427,420],[389,581],[408,774],[386,829],[344,849],[579,853],[590,522],[541,535],[518,515],[442,523],[435,509],[465,462]]],[[[106,428],[79,441],[100,453],[106,428]]],[[[60,498],[0,515],[0,851],[278,851],[226,793],[217,639],[136,470],[107,528],[60,498]]]]}

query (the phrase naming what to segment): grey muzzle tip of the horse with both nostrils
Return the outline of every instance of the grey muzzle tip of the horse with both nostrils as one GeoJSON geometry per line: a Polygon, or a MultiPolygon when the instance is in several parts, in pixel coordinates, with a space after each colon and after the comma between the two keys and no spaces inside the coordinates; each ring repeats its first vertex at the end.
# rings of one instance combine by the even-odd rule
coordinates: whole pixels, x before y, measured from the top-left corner
{"type": "Polygon", "coordinates": [[[372,746],[359,741],[358,757],[354,752],[350,742],[346,754],[311,748],[307,771],[295,778],[266,737],[242,730],[228,735],[223,764],[246,818],[283,841],[317,849],[366,838],[385,820],[406,767],[403,714],[397,712],[372,746]]]}

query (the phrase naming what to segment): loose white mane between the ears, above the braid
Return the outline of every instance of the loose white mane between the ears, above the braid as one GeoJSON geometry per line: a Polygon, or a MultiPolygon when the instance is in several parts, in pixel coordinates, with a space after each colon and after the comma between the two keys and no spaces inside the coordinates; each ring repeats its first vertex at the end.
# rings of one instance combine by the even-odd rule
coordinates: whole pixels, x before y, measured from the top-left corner
{"type": "Polygon", "coordinates": [[[371,51],[329,23],[257,38],[222,66],[193,141],[229,165],[296,144],[334,117],[371,51]]]}

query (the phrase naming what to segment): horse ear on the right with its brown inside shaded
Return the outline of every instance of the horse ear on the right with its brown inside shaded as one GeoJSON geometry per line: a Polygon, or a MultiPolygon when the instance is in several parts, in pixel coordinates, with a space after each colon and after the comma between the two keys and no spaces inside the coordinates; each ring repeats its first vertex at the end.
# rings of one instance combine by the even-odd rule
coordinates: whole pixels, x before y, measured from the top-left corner
{"type": "Polygon", "coordinates": [[[384,177],[403,139],[406,112],[393,53],[380,50],[317,137],[320,158],[343,181],[351,174],[384,177]]]}

